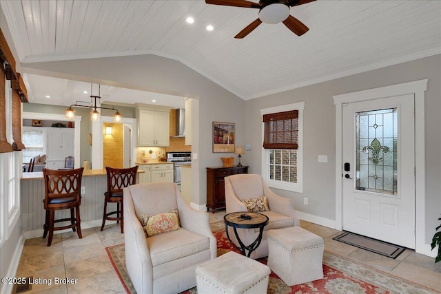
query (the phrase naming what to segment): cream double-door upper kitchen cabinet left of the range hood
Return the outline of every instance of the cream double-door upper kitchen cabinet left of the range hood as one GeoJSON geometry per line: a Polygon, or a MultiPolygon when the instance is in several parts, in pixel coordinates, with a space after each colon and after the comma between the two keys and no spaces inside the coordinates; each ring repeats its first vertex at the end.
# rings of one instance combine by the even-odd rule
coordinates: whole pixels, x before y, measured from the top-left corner
{"type": "Polygon", "coordinates": [[[170,145],[170,107],[165,111],[138,108],[138,145],[170,145]]]}

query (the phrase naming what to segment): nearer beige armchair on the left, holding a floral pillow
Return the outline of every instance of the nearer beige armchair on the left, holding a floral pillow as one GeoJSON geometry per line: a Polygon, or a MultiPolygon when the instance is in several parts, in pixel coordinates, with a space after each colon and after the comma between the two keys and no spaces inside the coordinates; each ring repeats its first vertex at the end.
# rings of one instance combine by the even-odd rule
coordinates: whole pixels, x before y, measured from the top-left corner
{"type": "Polygon", "coordinates": [[[216,258],[206,212],[189,207],[172,182],[123,189],[125,262],[136,293],[179,293],[196,286],[196,267],[216,258]],[[141,215],[178,209],[180,228],[145,237],[141,215]]]}

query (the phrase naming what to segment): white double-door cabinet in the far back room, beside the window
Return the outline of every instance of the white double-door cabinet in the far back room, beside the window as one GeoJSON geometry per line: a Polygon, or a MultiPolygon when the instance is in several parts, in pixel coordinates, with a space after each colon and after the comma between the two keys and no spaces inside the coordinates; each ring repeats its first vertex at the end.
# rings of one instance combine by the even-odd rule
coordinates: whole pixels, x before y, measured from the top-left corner
{"type": "Polygon", "coordinates": [[[46,136],[47,161],[64,162],[66,157],[74,156],[74,129],[48,127],[46,136]]]}

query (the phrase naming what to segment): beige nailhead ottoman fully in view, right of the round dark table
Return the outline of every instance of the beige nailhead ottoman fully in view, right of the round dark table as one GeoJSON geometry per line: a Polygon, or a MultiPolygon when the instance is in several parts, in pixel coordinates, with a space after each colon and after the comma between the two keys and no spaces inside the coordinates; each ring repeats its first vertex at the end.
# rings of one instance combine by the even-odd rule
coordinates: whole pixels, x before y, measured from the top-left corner
{"type": "Polygon", "coordinates": [[[268,266],[287,285],[323,278],[323,239],[300,227],[268,231],[268,266]]]}

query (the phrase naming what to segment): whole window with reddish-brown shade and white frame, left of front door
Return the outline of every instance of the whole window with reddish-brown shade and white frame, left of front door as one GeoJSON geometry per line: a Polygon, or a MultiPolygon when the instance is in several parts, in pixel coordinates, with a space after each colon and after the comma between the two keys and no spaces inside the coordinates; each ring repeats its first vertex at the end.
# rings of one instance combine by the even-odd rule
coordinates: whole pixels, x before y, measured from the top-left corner
{"type": "Polygon", "coordinates": [[[269,187],[302,192],[302,110],[305,103],[260,109],[263,172],[269,187]],[[283,111],[280,111],[283,110],[283,111]]]}

